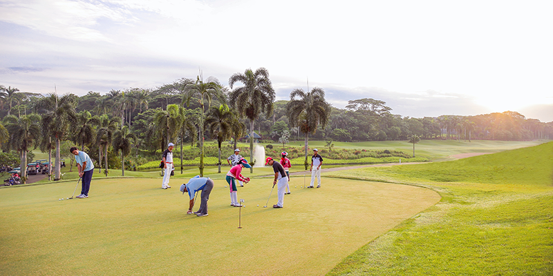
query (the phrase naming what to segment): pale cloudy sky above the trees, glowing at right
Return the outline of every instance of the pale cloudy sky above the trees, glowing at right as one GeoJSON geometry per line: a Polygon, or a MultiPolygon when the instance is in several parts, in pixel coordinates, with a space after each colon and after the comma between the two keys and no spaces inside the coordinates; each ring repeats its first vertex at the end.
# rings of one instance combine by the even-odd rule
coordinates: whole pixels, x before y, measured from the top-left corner
{"type": "MultiPolygon", "coordinates": [[[[266,68],[277,100],[553,121],[552,1],[0,0],[0,84],[104,95],[266,68]]],[[[239,86],[239,84],[238,84],[239,86]]]]}

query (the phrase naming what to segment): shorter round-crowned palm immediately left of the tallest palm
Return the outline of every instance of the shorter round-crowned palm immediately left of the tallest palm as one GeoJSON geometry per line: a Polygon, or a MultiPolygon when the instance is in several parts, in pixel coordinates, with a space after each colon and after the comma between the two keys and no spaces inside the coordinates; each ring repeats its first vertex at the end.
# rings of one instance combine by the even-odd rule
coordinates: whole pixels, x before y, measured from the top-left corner
{"type": "Polygon", "coordinates": [[[209,133],[217,136],[217,146],[219,148],[218,173],[221,173],[221,144],[230,138],[233,119],[234,115],[229,107],[226,104],[221,104],[218,108],[214,106],[209,109],[205,120],[209,133]]]}

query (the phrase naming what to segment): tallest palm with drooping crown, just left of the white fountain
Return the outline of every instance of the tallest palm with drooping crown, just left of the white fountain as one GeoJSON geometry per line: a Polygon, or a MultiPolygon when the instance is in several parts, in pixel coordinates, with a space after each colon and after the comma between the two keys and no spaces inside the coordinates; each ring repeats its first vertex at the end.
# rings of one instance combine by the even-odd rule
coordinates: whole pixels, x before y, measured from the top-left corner
{"type": "MultiPolygon", "coordinates": [[[[250,161],[254,162],[254,120],[261,113],[265,113],[267,118],[272,115],[275,93],[269,79],[269,71],[263,67],[255,72],[246,69],[243,74],[232,75],[229,78],[230,88],[232,89],[237,82],[243,83],[244,86],[232,90],[229,102],[238,110],[240,116],[250,119],[250,161]]],[[[253,167],[250,168],[250,172],[254,172],[253,167]]]]}

